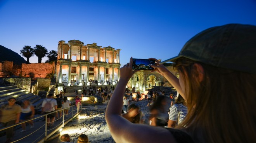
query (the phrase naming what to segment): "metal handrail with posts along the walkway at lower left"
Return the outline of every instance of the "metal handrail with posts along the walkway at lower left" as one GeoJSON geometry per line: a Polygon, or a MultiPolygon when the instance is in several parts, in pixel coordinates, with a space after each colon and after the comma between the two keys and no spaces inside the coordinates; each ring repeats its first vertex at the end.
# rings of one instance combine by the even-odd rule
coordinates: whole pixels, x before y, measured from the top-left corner
{"type": "MultiPolygon", "coordinates": [[[[64,109],[61,109],[61,110],[55,110],[55,111],[53,111],[53,112],[50,112],[50,113],[47,113],[47,114],[43,114],[43,115],[41,115],[41,116],[34,117],[34,118],[31,118],[31,119],[22,121],[22,122],[20,122],[20,123],[17,123],[17,124],[8,126],[8,127],[0,128],[0,131],[3,131],[3,130],[5,130],[5,129],[12,128],[12,127],[14,127],[14,126],[18,126],[18,125],[20,125],[20,124],[22,124],[22,123],[26,123],[26,122],[29,122],[29,121],[32,121],[32,120],[35,120],[35,119],[39,119],[39,118],[45,117],[45,124],[43,125],[43,126],[45,126],[45,136],[44,136],[44,140],[47,140],[47,115],[52,114],[52,113],[55,113],[55,112],[62,111],[62,113],[63,113],[63,114],[62,114],[62,123],[60,123],[59,125],[57,125],[56,128],[57,128],[58,126],[59,126],[58,128],[60,128],[61,126],[64,127],[64,110],[65,110],[65,109],[69,109],[70,107],[72,107],[72,111],[71,111],[70,113],[72,113],[71,119],[73,119],[74,117],[76,117],[76,116],[81,112],[82,104],[80,104],[80,103],[78,103],[78,104],[79,104],[79,106],[80,106],[80,109],[79,109],[79,111],[75,112],[75,114],[76,114],[75,116],[74,116],[74,114],[73,114],[73,111],[74,111],[74,106],[76,107],[76,104],[75,104],[75,105],[72,105],[72,106],[69,106],[69,107],[66,107],[66,108],[64,108],[64,109]]],[[[77,108],[76,108],[76,110],[77,110],[77,108]]],[[[70,114],[70,113],[68,113],[68,114],[70,114]]],[[[60,117],[60,118],[61,118],[61,117],[60,117]]],[[[65,121],[66,121],[66,120],[65,120],[65,121]]],[[[43,126],[41,126],[40,128],[42,128],[43,126]]],[[[36,131],[38,131],[40,128],[36,129],[36,131]]],[[[23,136],[22,138],[20,138],[20,139],[18,139],[18,140],[16,140],[16,141],[22,140],[22,139],[24,139],[24,138],[30,136],[31,134],[35,133],[36,131],[33,131],[32,133],[28,134],[27,136],[23,136]]],[[[48,131],[50,131],[50,130],[48,130],[48,131]]],[[[43,134],[42,134],[42,135],[43,135],[43,134]]],[[[41,136],[42,136],[42,135],[41,135],[41,136]]],[[[41,137],[41,136],[40,136],[40,137],[41,137]]],[[[39,138],[40,138],[40,137],[39,137],[39,138]]],[[[39,139],[39,138],[38,138],[38,139],[39,139]]],[[[38,140],[38,139],[37,139],[37,140],[38,140]]],[[[13,141],[12,143],[14,143],[14,142],[16,142],[16,141],[13,141]]]]}

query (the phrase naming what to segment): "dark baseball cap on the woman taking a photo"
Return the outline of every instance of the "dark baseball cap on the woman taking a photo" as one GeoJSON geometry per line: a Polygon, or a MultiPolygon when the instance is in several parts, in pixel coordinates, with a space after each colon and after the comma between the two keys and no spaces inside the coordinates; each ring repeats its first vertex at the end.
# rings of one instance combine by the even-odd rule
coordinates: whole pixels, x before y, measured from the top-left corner
{"type": "Polygon", "coordinates": [[[192,37],[178,56],[230,70],[256,73],[256,26],[226,24],[206,29],[192,37]]]}

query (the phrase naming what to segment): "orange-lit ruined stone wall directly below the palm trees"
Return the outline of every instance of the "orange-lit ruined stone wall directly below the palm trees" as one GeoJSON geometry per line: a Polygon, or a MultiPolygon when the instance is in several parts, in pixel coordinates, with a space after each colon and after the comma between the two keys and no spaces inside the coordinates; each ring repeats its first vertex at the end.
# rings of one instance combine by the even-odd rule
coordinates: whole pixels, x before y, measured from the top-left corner
{"type": "Polygon", "coordinates": [[[45,78],[48,73],[54,72],[54,62],[50,63],[22,63],[22,77],[45,78]]]}

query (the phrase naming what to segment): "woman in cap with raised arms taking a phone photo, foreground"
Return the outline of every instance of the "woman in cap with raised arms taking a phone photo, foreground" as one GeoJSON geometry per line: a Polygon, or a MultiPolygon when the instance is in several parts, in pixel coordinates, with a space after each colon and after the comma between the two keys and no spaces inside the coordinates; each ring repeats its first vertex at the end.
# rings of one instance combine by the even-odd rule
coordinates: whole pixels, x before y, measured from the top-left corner
{"type": "Polygon", "coordinates": [[[169,60],[177,78],[156,60],[151,65],[185,99],[188,114],[173,128],[132,124],[121,117],[125,86],[133,59],[120,68],[120,78],[107,110],[106,122],[117,143],[255,143],[256,26],[227,24],[192,37],[169,60]],[[218,101],[216,102],[216,95],[218,101]],[[241,98],[242,97],[242,98],[241,98]],[[237,100],[239,99],[239,100],[237,100]],[[140,136],[141,132],[147,136],[140,136]]]}

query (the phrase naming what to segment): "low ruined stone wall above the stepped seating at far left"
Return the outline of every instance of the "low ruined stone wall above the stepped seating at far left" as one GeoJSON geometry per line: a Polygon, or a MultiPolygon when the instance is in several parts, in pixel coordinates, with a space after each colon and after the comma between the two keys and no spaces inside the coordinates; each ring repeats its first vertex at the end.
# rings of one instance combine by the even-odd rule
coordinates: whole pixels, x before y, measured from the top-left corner
{"type": "Polygon", "coordinates": [[[22,87],[26,92],[30,92],[31,78],[0,78],[0,85],[10,86],[17,85],[17,87],[22,87]]]}

